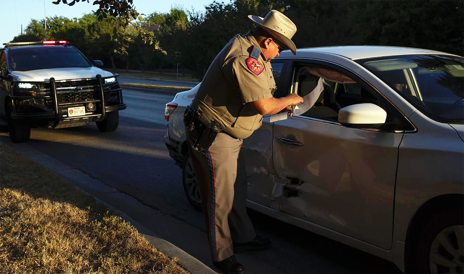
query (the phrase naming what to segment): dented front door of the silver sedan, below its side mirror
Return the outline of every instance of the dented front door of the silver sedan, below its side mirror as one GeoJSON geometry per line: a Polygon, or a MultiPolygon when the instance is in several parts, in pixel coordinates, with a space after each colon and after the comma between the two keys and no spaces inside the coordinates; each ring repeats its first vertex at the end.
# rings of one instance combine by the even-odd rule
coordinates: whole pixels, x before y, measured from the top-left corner
{"type": "MultiPolygon", "coordinates": [[[[299,68],[315,64],[355,80],[350,89],[358,89],[360,102],[363,95],[366,102],[373,102],[373,96],[382,100],[373,87],[350,70],[320,61],[289,64],[294,76],[287,90],[302,81],[297,79],[299,68]]],[[[300,83],[298,93],[305,93],[302,87],[313,88],[300,83]]],[[[277,201],[280,211],[291,216],[389,249],[398,147],[403,133],[341,125],[336,120],[337,110],[322,104],[318,102],[303,115],[274,123],[275,185],[271,199],[277,201]]],[[[392,120],[396,113],[389,113],[385,101],[379,105],[390,117],[387,122],[392,120]]]]}

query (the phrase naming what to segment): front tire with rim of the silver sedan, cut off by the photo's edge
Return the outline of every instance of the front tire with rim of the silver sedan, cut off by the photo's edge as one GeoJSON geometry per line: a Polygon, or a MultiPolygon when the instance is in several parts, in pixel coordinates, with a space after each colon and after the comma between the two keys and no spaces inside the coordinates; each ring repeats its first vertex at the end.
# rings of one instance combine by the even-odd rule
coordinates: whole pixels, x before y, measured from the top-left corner
{"type": "Polygon", "coordinates": [[[463,223],[461,208],[436,214],[425,224],[416,250],[417,273],[463,273],[463,223]]]}

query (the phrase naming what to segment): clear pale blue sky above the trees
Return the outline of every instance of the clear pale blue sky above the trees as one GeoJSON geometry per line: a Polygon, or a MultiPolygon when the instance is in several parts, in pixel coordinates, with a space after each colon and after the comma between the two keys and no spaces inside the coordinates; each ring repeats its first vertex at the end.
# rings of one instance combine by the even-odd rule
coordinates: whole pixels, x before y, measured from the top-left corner
{"type": "MultiPolygon", "coordinates": [[[[93,6],[93,0],[80,1],[74,6],[52,4],[54,0],[45,0],[45,13],[47,17],[64,16],[67,18],[80,18],[84,13],[96,10],[93,6]]],[[[13,40],[13,37],[21,33],[21,24],[23,31],[31,19],[44,19],[44,0],[0,0],[0,47],[3,43],[13,40]]],[[[71,0],[68,0],[71,2],[71,0]]],[[[134,6],[137,12],[150,14],[152,12],[169,12],[171,6],[182,6],[186,10],[199,12],[205,11],[205,6],[212,3],[213,0],[134,0],[134,6]]]]}

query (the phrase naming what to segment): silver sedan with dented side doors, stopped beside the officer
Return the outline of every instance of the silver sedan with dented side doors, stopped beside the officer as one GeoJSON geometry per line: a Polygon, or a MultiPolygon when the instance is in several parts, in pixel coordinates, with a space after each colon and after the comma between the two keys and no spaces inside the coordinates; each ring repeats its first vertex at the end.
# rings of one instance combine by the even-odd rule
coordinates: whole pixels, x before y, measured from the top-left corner
{"type": "MultiPolygon", "coordinates": [[[[464,58],[321,47],[284,51],[272,69],[275,97],[322,92],[244,140],[248,206],[402,271],[463,273],[464,58]]],[[[165,142],[200,208],[182,123],[197,89],[166,105],[165,142]]]]}

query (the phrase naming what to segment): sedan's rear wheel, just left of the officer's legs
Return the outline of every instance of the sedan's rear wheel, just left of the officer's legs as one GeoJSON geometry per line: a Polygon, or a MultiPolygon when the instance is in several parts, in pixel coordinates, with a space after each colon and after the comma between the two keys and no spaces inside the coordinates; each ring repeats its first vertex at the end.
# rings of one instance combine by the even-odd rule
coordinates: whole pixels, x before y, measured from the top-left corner
{"type": "Polygon", "coordinates": [[[201,197],[198,189],[197,177],[193,169],[192,157],[187,153],[184,162],[182,163],[182,185],[185,195],[194,209],[201,211],[201,197]]]}

